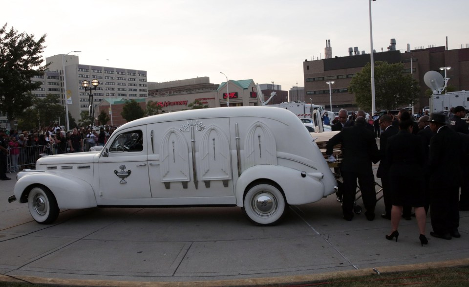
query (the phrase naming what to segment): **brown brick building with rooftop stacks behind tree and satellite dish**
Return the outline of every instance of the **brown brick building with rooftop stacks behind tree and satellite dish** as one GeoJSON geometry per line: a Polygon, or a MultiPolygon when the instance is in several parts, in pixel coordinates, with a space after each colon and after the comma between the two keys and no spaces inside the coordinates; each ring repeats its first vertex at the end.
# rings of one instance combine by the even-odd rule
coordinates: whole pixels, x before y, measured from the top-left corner
{"type": "MultiPolygon", "coordinates": [[[[370,62],[370,54],[364,54],[364,52],[360,54],[358,48],[355,54],[352,54],[350,50],[349,56],[346,57],[303,62],[306,99],[311,98],[314,104],[324,105],[329,110],[330,96],[327,82],[334,81],[331,86],[332,110],[359,108],[355,102],[355,95],[348,92],[348,87],[352,77],[370,62]]],[[[428,96],[426,96],[428,88],[424,82],[424,75],[427,71],[438,71],[444,76],[440,68],[450,66],[451,69],[447,70],[448,85],[453,86],[455,90],[469,89],[469,48],[448,50],[445,46],[438,46],[405,52],[390,48],[389,51],[375,52],[374,61],[404,63],[404,72],[412,73],[421,87],[419,102],[414,105],[416,109],[428,106],[428,96]]]]}

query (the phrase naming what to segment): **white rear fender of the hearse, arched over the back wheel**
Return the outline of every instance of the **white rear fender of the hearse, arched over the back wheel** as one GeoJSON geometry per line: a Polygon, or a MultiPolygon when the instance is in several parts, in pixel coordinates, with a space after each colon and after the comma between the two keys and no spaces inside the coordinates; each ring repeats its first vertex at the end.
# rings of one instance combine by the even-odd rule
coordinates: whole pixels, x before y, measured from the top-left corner
{"type": "Polygon", "coordinates": [[[305,204],[316,202],[324,197],[325,187],[320,172],[306,173],[279,165],[256,165],[243,171],[236,181],[236,204],[243,206],[246,187],[259,179],[276,182],[285,194],[288,204],[305,204]]]}

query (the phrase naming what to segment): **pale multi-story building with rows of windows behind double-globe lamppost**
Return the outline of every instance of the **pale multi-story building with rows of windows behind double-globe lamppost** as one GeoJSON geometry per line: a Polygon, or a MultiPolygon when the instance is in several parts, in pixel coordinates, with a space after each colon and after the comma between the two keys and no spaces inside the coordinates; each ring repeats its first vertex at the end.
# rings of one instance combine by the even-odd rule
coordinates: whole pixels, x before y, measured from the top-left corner
{"type": "MultiPolygon", "coordinates": [[[[99,81],[99,86],[93,90],[93,109],[104,99],[140,99],[148,97],[147,71],[125,69],[106,66],[92,66],[79,64],[78,56],[54,55],[47,57],[46,63],[50,63],[49,70],[44,78],[35,78],[34,81],[42,81],[43,85],[33,91],[38,97],[47,94],[57,95],[62,104],[65,103],[64,71],[66,89],[71,94],[72,103],[68,105],[70,114],[75,119],[80,119],[82,111],[89,111],[89,91],[85,92],[82,82],[93,79],[99,81]],[[64,62],[63,62],[64,61],[64,62]]],[[[95,112],[95,116],[97,113],[95,112]]]]}

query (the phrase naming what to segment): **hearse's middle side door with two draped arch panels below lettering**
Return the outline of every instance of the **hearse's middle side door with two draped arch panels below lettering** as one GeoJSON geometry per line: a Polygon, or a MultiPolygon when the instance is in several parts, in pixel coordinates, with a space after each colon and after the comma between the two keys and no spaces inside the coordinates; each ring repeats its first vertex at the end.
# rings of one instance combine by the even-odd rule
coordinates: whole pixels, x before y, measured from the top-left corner
{"type": "Polygon", "coordinates": [[[152,197],[167,204],[235,203],[229,131],[228,118],[149,124],[152,197]]]}

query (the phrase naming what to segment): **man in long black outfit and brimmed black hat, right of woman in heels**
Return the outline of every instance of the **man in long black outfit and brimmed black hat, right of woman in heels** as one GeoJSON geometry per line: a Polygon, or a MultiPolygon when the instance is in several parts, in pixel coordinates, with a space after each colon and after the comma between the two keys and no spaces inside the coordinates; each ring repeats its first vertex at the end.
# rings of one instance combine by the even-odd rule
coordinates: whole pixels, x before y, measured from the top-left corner
{"type": "Polygon", "coordinates": [[[430,139],[428,168],[430,171],[430,218],[437,238],[459,238],[459,186],[461,180],[461,137],[448,127],[443,113],[432,113],[430,129],[436,134],[430,139]]]}

